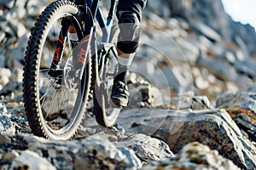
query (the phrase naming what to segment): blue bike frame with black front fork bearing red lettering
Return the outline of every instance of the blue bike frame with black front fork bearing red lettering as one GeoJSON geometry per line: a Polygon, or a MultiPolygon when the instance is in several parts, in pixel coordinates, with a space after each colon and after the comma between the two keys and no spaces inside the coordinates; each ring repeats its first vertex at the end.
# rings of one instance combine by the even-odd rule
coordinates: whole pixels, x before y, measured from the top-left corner
{"type": "MultiPolygon", "coordinates": [[[[75,0],[73,0],[73,2],[75,2],[75,0]]],[[[92,17],[92,23],[90,23],[90,27],[85,29],[84,32],[84,37],[80,42],[80,52],[79,52],[79,57],[76,61],[76,65],[75,68],[76,70],[80,70],[80,72],[78,73],[79,76],[78,78],[81,80],[83,77],[83,71],[84,71],[84,61],[86,60],[87,54],[90,51],[90,53],[92,54],[93,58],[96,59],[96,67],[100,67],[100,70],[102,70],[102,60],[105,59],[106,57],[106,50],[101,51],[99,54],[98,53],[98,46],[104,46],[104,48],[108,48],[108,49],[113,49],[113,45],[108,45],[108,47],[104,44],[107,44],[109,42],[109,37],[110,37],[110,32],[111,32],[111,27],[113,24],[113,19],[115,16],[115,12],[116,12],[116,8],[117,8],[117,4],[118,4],[119,0],[111,0],[111,5],[109,8],[109,12],[108,12],[108,18],[105,20],[102,14],[102,10],[99,7],[99,0],[83,0],[83,4],[77,4],[78,6],[82,6],[83,8],[88,7],[90,8],[90,14],[92,17]],[[99,26],[102,29],[102,41],[95,44],[96,42],[96,25],[95,22],[98,22],[99,26]],[[99,56],[97,56],[99,55],[99,56]],[[99,64],[99,65],[98,65],[99,64]]],[[[83,9],[82,9],[83,10],[83,9]]],[[[86,10],[86,9],[85,9],[86,10]]],[[[58,38],[58,42],[55,48],[55,54],[52,60],[52,64],[50,66],[50,71],[49,71],[49,76],[51,77],[59,77],[61,75],[61,71],[58,70],[58,64],[62,58],[63,55],[63,47],[64,47],[64,43],[66,42],[66,38],[67,38],[67,20],[63,20],[61,22],[61,32],[60,32],[60,36],[58,38]]],[[[107,50],[108,51],[108,50],[107,50]]],[[[98,74],[98,68],[96,68],[96,77],[98,75],[102,75],[102,72],[100,72],[98,74]]]]}

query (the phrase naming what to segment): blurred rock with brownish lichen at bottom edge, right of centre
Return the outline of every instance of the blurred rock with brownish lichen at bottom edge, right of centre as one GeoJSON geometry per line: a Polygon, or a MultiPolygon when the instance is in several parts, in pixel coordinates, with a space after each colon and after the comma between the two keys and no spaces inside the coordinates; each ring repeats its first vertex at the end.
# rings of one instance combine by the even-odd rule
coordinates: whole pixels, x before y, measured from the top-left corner
{"type": "Polygon", "coordinates": [[[232,161],[210,150],[207,145],[186,144],[177,156],[163,161],[151,161],[143,169],[240,169],[232,161]]]}

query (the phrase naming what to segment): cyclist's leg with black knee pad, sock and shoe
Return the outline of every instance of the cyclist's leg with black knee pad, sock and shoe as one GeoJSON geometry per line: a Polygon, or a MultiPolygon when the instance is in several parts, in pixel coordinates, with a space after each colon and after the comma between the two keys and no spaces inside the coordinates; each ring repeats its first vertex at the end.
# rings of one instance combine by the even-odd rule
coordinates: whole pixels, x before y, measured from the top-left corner
{"type": "Polygon", "coordinates": [[[138,47],[140,37],[139,23],[147,0],[119,0],[117,17],[119,19],[119,72],[113,80],[113,103],[119,107],[128,105],[129,93],[125,81],[126,73],[138,47]]]}

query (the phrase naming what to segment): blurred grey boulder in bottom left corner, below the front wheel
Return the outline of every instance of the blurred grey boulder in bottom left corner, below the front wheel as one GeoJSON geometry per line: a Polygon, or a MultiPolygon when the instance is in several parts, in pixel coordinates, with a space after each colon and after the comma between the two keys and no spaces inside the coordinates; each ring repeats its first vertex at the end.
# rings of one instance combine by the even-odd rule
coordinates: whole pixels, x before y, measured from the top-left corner
{"type": "MultiPolygon", "coordinates": [[[[13,156],[13,159],[4,163],[0,161],[6,169],[26,165],[35,168],[52,165],[56,169],[137,169],[142,167],[142,161],[133,150],[117,147],[108,139],[99,137],[74,141],[53,141],[33,136],[10,138],[12,143],[0,144],[2,153],[3,150],[5,151],[3,157],[6,157],[8,150],[20,150],[21,154],[13,156]]],[[[55,169],[54,167],[51,169],[55,169]]]]}

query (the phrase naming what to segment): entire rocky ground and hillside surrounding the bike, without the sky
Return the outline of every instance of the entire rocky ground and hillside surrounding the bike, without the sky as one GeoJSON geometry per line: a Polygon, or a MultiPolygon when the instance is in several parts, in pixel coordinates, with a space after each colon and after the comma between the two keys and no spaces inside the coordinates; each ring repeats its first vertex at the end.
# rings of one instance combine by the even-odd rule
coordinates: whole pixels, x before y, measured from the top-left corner
{"type": "Polygon", "coordinates": [[[256,33],[220,0],[148,0],[117,124],[90,116],[71,141],[32,135],[23,57],[49,3],[0,1],[0,169],[255,169],[256,33]]]}

